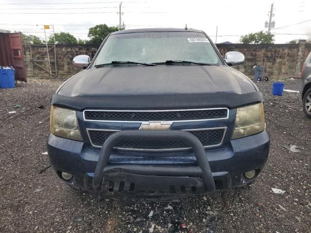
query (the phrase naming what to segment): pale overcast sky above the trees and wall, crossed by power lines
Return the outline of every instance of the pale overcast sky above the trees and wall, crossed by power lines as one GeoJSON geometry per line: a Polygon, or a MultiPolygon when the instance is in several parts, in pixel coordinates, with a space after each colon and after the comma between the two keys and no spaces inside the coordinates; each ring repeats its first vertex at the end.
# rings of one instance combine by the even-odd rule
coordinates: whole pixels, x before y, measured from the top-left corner
{"type": "MultiPolygon", "coordinates": [[[[269,20],[271,3],[272,0],[126,0],[122,1],[122,22],[126,29],[184,28],[187,23],[189,28],[205,31],[214,41],[218,26],[217,43],[237,43],[240,35],[267,30],[264,22],[269,20]]],[[[88,28],[96,24],[119,24],[119,4],[115,0],[0,0],[0,29],[43,39],[42,25],[53,24],[55,32],[87,39],[88,28]]],[[[275,43],[311,38],[310,13],[311,0],[275,0],[276,29],[271,31],[275,33],[275,43]],[[309,21],[298,24],[306,20],[309,21]]],[[[47,30],[47,35],[51,32],[47,30]]]]}

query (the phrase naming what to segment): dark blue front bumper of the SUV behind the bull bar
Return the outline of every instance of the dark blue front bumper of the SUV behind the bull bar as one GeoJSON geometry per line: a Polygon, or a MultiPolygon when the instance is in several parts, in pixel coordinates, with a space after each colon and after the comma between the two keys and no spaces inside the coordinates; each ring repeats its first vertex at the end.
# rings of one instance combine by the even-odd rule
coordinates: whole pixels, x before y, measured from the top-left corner
{"type": "Polygon", "coordinates": [[[108,153],[110,156],[106,157],[105,171],[103,167],[97,168],[103,171],[99,176],[100,179],[106,181],[97,182],[101,184],[99,189],[98,186],[94,186],[93,177],[94,173],[96,175],[95,169],[101,150],[89,148],[84,142],[50,134],[48,153],[52,166],[59,176],[62,171],[74,175],[67,183],[88,191],[95,190],[100,192],[102,197],[176,198],[252,182],[268,158],[269,143],[269,134],[265,130],[256,135],[231,140],[223,148],[208,150],[202,148],[204,161],[208,160],[203,166],[191,151],[112,151],[111,154],[108,153]],[[208,176],[214,180],[215,188],[210,188],[210,184],[205,185],[202,175],[205,172],[202,173],[202,170],[208,168],[208,165],[211,170],[208,176]],[[155,172],[159,169],[162,169],[160,173],[155,172]],[[256,176],[252,180],[243,176],[243,173],[249,170],[256,170],[256,176]],[[137,189],[133,189],[132,183],[136,184],[137,189]],[[129,192],[130,190],[132,192],[129,192]]]}

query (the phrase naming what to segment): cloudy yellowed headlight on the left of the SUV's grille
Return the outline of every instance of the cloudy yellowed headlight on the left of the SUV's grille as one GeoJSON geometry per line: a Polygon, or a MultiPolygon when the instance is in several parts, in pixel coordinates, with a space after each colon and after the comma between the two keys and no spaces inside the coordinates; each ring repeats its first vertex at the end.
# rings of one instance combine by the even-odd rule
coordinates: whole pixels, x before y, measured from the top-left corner
{"type": "Polygon", "coordinates": [[[51,107],[50,131],[56,136],[82,141],[76,111],[51,107]]]}

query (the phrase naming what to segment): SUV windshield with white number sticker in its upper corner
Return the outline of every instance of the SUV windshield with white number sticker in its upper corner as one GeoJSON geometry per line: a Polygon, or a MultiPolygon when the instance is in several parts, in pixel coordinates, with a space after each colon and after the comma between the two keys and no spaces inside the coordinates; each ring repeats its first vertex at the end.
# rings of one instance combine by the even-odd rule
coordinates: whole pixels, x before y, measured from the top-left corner
{"type": "Polygon", "coordinates": [[[110,35],[94,65],[112,61],[164,63],[168,60],[221,64],[204,33],[147,32],[110,35]]]}

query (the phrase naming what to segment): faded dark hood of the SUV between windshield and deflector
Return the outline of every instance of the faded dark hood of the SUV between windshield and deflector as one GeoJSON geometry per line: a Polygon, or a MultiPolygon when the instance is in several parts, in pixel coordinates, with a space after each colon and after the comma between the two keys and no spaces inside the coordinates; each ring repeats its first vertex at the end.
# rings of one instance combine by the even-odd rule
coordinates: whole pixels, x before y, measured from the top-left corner
{"type": "Polygon", "coordinates": [[[250,79],[231,67],[120,66],[81,71],[59,89],[59,95],[120,96],[234,93],[257,91],[250,79]]]}

